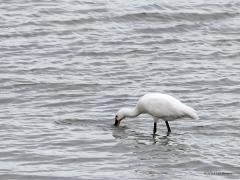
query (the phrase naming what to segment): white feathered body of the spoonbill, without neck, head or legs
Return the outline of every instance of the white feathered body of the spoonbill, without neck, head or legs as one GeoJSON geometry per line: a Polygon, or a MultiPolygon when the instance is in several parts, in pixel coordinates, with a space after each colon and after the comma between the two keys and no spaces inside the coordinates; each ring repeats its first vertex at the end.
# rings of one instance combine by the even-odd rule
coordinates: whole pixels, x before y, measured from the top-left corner
{"type": "Polygon", "coordinates": [[[146,94],[140,98],[137,107],[142,113],[148,113],[158,118],[174,120],[188,116],[197,119],[194,109],[167,94],[146,94]]]}

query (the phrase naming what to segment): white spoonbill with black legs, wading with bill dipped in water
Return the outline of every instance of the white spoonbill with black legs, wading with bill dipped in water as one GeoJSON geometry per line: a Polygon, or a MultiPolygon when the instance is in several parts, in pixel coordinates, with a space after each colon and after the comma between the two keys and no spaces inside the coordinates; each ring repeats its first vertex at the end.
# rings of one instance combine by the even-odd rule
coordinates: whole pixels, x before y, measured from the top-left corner
{"type": "Polygon", "coordinates": [[[161,93],[148,93],[142,96],[134,108],[122,108],[115,116],[115,126],[119,126],[121,120],[126,117],[136,117],[139,114],[146,113],[153,117],[154,127],[153,135],[157,131],[157,122],[159,119],[165,121],[168,135],[171,133],[171,128],[168,121],[173,121],[179,118],[189,117],[198,119],[196,111],[180,102],[178,99],[161,93]]]}

